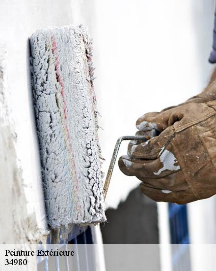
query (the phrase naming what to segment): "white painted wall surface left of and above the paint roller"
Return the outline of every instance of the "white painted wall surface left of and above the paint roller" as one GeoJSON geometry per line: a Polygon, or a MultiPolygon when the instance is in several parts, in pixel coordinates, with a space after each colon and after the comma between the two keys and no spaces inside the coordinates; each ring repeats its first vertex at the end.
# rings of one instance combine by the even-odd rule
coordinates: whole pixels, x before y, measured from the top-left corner
{"type": "Polygon", "coordinates": [[[4,96],[6,101],[1,103],[0,116],[3,148],[0,210],[5,214],[0,218],[0,228],[5,229],[0,233],[1,242],[38,242],[47,231],[32,106],[28,38],[41,28],[77,22],[91,25],[87,23],[90,19],[85,10],[89,12],[91,6],[84,1],[0,2],[0,60],[4,60],[4,65],[0,64],[4,77],[1,78],[0,99],[3,101],[4,96]],[[84,13],[87,16],[82,16],[84,13]],[[14,222],[19,223],[25,233],[14,222]],[[29,232],[27,225],[31,227],[29,232]]]}

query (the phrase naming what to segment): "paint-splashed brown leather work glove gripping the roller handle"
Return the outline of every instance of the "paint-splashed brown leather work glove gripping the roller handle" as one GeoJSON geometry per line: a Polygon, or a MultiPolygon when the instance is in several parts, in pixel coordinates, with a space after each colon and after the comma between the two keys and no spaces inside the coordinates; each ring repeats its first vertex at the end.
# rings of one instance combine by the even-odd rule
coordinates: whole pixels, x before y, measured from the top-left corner
{"type": "Polygon", "coordinates": [[[137,128],[161,133],[146,142],[131,141],[129,156],[119,159],[123,173],[142,181],[145,195],[184,204],[216,194],[216,101],[146,114],[137,128]]]}

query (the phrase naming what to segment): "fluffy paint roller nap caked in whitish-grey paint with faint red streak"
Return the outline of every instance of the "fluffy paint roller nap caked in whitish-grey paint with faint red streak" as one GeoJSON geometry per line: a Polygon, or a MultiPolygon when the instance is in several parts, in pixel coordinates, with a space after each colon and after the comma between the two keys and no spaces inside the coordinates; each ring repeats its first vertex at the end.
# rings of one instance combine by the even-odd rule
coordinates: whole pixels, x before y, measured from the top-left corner
{"type": "Polygon", "coordinates": [[[33,102],[48,223],[106,220],[92,41],[83,26],[30,37],[33,102]]]}

